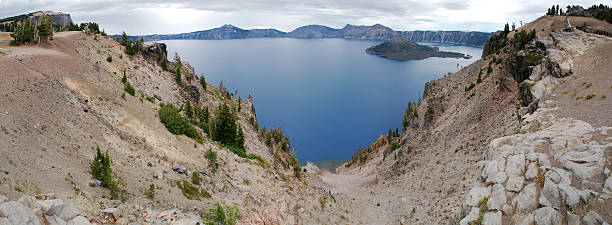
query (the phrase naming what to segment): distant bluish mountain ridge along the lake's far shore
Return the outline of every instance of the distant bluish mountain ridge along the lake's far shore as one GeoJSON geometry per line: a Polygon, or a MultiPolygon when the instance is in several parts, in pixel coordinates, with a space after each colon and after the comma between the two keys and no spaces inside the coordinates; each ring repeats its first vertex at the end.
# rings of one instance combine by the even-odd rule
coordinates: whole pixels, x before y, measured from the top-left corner
{"type": "MultiPolygon", "coordinates": [[[[493,33],[476,31],[394,31],[381,24],[356,26],[347,24],[341,29],[323,25],[306,25],[291,32],[277,29],[246,30],[230,24],[209,30],[181,34],[130,36],[132,39],[143,38],[144,41],[194,39],[225,40],[244,38],[344,38],[355,40],[388,41],[395,37],[408,37],[415,42],[434,42],[444,44],[464,44],[481,47],[493,33]]],[[[116,35],[115,37],[119,37],[116,35]]]]}

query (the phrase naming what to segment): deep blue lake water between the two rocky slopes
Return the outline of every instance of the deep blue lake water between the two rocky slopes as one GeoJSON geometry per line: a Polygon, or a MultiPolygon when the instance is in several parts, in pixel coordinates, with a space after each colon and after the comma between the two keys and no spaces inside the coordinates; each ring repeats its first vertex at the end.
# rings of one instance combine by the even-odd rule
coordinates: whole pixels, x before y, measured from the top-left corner
{"type": "Polygon", "coordinates": [[[389,128],[425,82],[480,58],[481,48],[438,45],[471,59],[394,61],[368,55],[377,42],[344,39],[168,40],[206,81],[254,96],[260,126],[281,126],[300,161],[349,159],[389,128]]]}

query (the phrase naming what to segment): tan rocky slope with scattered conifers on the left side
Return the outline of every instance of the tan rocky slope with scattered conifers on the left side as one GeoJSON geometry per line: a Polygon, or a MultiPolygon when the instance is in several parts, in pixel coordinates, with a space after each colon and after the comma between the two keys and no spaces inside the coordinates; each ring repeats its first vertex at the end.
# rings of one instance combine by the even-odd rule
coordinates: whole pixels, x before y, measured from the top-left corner
{"type": "Polygon", "coordinates": [[[186,62],[178,83],[160,66],[163,45],[129,56],[109,37],[62,32],[49,45],[0,49],[0,195],[8,198],[0,203],[0,223],[72,224],[81,215],[92,223],[196,224],[217,202],[238,208],[238,224],[342,221],[342,211],[323,210],[320,199],[329,192],[309,185],[319,182],[315,175],[297,178],[290,154],[266,144],[253,125],[252,99],[210,84],[204,89],[186,62]],[[124,73],[134,96],[124,92],[124,73]],[[158,118],[159,103],[188,100],[208,107],[211,116],[222,103],[240,104],[246,153],[265,162],[241,158],[207,137],[170,133],[158,118]],[[123,201],[111,200],[109,190],[92,180],[96,146],[112,159],[123,201]],[[204,157],[207,150],[217,153],[215,163],[204,157]],[[49,209],[51,203],[59,208],[49,209]]]}

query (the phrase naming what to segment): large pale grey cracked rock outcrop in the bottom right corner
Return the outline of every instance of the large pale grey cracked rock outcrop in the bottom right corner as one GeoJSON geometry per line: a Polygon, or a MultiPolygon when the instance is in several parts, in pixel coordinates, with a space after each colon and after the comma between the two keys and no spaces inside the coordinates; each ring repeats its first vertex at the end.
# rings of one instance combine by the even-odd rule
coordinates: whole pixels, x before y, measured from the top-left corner
{"type": "Polygon", "coordinates": [[[465,202],[473,213],[461,224],[500,224],[502,218],[512,224],[606,224],[597,211],[609,210],[612,174],[605,154],[612,150],[612,127],[542,116],[546,110],[538,109],[523,126],[541,129],[489,143],[465,202]]]}

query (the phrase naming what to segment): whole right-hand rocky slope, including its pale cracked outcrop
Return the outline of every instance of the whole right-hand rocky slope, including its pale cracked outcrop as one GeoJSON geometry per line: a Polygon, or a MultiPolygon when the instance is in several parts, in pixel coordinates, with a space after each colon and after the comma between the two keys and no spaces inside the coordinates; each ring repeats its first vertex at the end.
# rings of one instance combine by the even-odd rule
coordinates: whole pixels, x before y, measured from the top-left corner
{"type": "Polygon", "coordinates": [[[523,26],[536,31],[524,47],[521,30],[509,32],[506,45],[428,82],[401,134],[322,174],[354,222],[610,222],[612,39],[564,21],[539,18],[523,26]]]}

